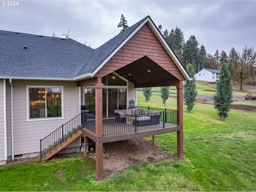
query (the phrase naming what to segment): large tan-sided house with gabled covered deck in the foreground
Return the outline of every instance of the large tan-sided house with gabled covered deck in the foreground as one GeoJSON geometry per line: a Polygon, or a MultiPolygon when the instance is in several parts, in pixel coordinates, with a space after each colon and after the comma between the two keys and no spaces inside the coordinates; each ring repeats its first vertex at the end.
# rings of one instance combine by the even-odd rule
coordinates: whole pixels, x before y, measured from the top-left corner
{"type": "MultiPolygon", "coordinates": [[[[148,16],[92,49],[73,39],[0,31],[0,162],[95,142],[103,178],[106,142],[177,132],[183,158],[187,71],[148,16]],[[136,106],[136,88],[177,87],[177,110],[136,106]]],[[[154,137],[153,137],[154,138],[154,137]]],[[[171,139],[171,138],[170,138],[171,139]]]]}

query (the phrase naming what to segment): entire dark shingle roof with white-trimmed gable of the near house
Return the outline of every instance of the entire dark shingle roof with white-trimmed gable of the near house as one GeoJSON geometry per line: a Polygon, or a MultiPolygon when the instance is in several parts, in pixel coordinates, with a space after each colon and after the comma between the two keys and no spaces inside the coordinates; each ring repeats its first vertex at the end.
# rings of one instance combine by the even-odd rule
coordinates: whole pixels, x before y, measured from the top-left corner
{"type": "Polygon", "coordinates": [[[0,30],[0,50],[3,50],[0,78],[79,80],[93,77],[146,22],[183,76],[187,80],[190,79],[149,16],[95,50],[73,39],[16,34],[0,30]],[[23,49],[24,46],[27,46],[26,50],[23,49]]]}

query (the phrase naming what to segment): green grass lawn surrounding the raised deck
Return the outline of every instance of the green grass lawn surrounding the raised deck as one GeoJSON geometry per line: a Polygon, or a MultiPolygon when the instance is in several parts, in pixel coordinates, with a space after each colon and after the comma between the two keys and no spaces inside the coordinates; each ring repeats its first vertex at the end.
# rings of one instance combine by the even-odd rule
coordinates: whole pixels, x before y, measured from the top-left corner
{"type": "MultiPolygon", "coordinates": [[[[145,102],[138,92],[138,105],[164,107],[159,93],[145,102]]],[[[176,108],[169,98],[167,108],[176,108]]],[[[212,105],[197,103],[184,113],[183,161],[165,160],[137,165],[94,179],[94,162],[87,158],[65,158],[46,163],[27,163],[0,168],[0,190],[207,190],[253,191],[256,189],[256,132],[253,112],[231,110],[220,121],[212,105]],[[235,139],[242,135],[244,139],[235,139]]],[[[156,136],[156,145],[176,154],[176,135],[156,136]]]]}

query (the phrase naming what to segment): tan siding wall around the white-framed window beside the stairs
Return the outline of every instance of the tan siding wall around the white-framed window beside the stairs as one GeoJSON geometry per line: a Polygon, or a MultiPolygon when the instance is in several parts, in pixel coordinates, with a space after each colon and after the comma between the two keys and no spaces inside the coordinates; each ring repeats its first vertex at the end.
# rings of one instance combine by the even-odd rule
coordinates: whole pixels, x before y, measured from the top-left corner
{"type": "MultiPolygon", "coordinates": [[[[10,92],[10,91],[9,91],[10,92]]],[[[66,81],[13,81],[13,125],[14,155],[36,153],[40,150],[39,140],[57,129],[61,124],[79,114],[79,94],[76,82],[66,81]],[[63,86],[64,119],[27,121],[27,86],[63,86]]],[[[10,103],[7,102],[10,107],[10,103]]],[[[9,111],[8,111],[9,113],[9,111]]],[[[8,116],[8,155],[11,155],[11,125],[8,116]]],[[[68,147],[79,145],[79,138],[68,147]]]]}

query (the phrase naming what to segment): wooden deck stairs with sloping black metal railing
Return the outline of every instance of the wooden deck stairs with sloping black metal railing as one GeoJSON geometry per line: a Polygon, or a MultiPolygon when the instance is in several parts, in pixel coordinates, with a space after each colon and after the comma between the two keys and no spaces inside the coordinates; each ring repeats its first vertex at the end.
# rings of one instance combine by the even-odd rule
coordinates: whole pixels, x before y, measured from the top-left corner
{"type": "Polygon", "coordinates": [[[82,113],[40,140],[40,161],[46,161],[82,135],[82,113]]]}

